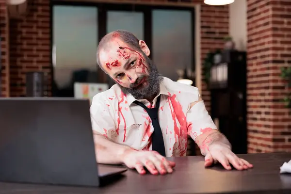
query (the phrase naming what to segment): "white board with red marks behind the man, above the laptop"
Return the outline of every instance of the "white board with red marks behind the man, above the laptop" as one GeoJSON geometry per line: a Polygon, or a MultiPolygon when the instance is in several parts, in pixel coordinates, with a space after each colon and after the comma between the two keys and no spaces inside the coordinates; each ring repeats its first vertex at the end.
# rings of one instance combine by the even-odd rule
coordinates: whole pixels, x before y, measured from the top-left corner
{"type": "Polygon", "coordinates": [[[78,99],[89,99],[90,104],[95,95],[108,90],[106,83],[74,83],[74,97],[78,99]]]}

